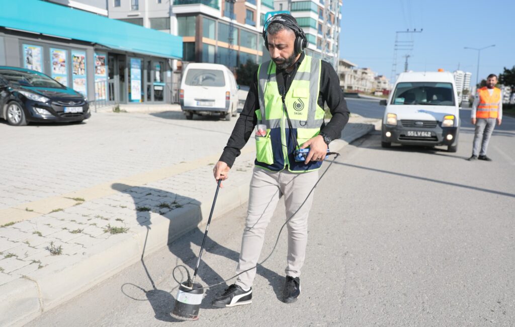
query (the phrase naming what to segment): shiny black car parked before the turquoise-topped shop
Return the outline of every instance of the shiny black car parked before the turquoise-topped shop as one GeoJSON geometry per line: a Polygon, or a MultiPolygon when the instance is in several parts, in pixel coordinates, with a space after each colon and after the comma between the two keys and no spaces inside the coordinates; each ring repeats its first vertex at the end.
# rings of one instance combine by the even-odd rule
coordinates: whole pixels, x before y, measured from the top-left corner
{"type": "Polygon", "coordinates": [[[10,125],[82,122],[91,116],[83,95],[40,72],[0,66],[0,118],[10,125]]]}

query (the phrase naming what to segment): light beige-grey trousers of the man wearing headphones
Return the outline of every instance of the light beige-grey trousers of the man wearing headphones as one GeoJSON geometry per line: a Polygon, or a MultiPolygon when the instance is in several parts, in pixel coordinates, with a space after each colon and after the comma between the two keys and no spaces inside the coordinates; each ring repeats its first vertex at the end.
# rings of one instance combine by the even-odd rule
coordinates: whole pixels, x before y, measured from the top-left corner
{"type": "MultiPolygon", "coordinates": [[[[236,273],[252,268],[258,263],[265,239],[265,230],[279,199],[284,195],[286,219],[288,219],[299,209],[317,180],[318,171],[299,174],[290,173],[287,170],[268,171],[259,167],[254,168],[250,182],[242,249],[239,252],[236,273]]],[[[288,229],[288,256],[285,272],[291,277],[299,277],[300,269],[304,264],[307,244],[307,216],[312,202],[313,193],[286,225],[288,229]]],[[[274,231],[272,237],[275,238],[278,232],[274,231]]],[[[235,284],[248,289],[252,286],[255,274],[256,268],[246,271],[238,276],[235,284]]]]}

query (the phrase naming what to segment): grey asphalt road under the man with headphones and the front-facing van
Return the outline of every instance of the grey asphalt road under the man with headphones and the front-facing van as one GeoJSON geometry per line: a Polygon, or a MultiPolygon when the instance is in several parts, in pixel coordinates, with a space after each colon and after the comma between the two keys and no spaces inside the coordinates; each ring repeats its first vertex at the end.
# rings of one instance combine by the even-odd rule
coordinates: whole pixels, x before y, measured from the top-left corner
{"type": "MultiPolygon", "coordinates": [[[[506,117],[501,127],[490,143],[493,162],[465,160],[473,137],[467,123],[456,153],[382,149],[379,132],[347,146],[315,193],[299,301],[278,299],[282,235],[258,269],[252,304],[215,308],[210,303],[223,290],[215,287],[206,293],[200,320],[181,325],[514,325],[515,119],[506,117]]],[[[197,281],[232,276],[244,216],[242,206],[211,223],[197,281]]],[[[262,257],[284,220],[281,202],[262,257]]],[[[193,271],[202,236],[203,230],[184,235],[28,325],[178,322],[169,315],[177,293],[171,272],[182,263],[193,271]]]]}

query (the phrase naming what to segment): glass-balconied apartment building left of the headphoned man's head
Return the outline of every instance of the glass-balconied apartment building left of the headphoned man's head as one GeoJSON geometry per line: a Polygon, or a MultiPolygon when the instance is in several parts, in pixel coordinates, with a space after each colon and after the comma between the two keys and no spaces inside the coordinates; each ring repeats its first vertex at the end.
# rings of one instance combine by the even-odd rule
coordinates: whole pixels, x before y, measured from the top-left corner
{"type": "Polygon", "coordinates": [[[262,21],[273,0],[109,0],[108,11],[110,18],[182,37],[185,62],[234,68],[262,61],[262,21]]]}

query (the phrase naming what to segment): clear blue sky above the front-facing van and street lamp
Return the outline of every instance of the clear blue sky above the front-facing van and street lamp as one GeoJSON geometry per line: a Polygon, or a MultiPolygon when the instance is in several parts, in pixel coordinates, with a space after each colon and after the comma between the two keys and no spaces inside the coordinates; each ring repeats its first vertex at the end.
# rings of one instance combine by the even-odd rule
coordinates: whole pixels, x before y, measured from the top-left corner
{"type": "Polygon", "coordinates": [[[399,40],[414,41],[413,51],[397,53],[397,73],[404,71],[409,54],[412,71],[462,71],[475,83],[476,50],[480,51],[479,80],[515,65],[515,0],[343,0],[340,58],[358,67],[370,67],[390,78],[396,31],[399,40]]]}

